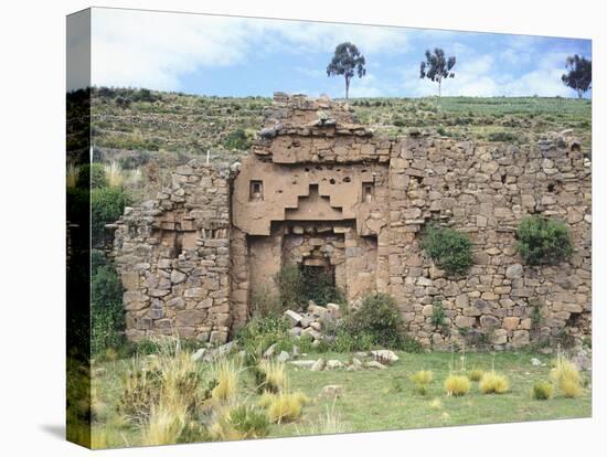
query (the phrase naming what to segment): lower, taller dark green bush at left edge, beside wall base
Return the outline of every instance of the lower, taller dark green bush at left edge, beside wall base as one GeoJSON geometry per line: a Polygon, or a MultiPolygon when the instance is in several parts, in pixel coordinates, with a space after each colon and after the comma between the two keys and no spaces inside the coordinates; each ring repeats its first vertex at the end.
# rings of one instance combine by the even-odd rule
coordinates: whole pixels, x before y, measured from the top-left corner
{"type": "Polygon", "coordinates": [[[90,272],[90,351],[102,353],[107,348],[124,344],[125,316],[123,285],[116,269],[92,251],[90,272]]]}

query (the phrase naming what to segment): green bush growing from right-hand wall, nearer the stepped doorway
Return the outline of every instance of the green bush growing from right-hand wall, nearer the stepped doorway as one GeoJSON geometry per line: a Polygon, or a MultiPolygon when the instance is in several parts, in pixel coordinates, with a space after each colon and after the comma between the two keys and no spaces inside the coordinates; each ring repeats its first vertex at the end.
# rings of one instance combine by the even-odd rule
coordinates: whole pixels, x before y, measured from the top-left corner
{"type": "Polygon", "coordinates": [[[472,265],[472,242],[454,228],[430,224],[422,240],[422,248],[448,275],[464,274],[472,265]]]}

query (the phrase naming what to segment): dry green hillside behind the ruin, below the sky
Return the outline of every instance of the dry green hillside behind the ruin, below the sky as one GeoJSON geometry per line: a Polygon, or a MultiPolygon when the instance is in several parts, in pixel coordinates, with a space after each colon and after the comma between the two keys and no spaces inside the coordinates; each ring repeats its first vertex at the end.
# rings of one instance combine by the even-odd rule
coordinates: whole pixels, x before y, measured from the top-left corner
{"type": "MultiPolygon", "coordinates": [[[[270,104],[265,97],[96,88],[94,146],[185,155],[211,149],[215,156],[230,155],[248,148],[270,104]]],[[[547,131],[573,129],[583,147],[590,149],[592,102],[587,99],[355,98],[350,105],[361,123],[385,135],[417,128],[456,138],[528,144],[547,131]]]]}

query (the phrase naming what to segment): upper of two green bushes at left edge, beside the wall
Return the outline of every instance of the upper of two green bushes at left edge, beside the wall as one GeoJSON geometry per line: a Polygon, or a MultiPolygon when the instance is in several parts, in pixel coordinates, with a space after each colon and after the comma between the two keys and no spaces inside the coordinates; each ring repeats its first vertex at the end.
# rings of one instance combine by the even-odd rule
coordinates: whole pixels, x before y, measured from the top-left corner
{"type": "Polygon", "coordinates": [[[116,222],[125,211],[128,198],[124,189],[102,188],[90,192],[90,231],[93,245],[105,240],[105,225],[116,222]]]}

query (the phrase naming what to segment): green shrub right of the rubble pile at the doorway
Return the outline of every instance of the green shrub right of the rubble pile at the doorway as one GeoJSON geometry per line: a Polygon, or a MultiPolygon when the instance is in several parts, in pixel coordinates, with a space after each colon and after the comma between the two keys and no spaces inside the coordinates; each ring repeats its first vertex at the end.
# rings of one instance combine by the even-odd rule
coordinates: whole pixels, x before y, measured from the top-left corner
{"type": "Polygon", "coordinates": [[[376,346],[401,348],[404,342],[401,312],[387,294],[368,295],[359,309],[345,312],[341,325],[341,331],[351,336],[368,334],[376,346]]]}

